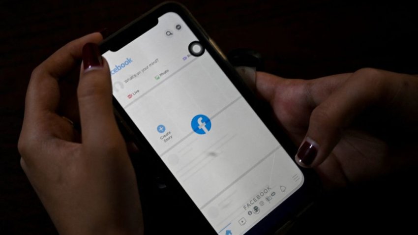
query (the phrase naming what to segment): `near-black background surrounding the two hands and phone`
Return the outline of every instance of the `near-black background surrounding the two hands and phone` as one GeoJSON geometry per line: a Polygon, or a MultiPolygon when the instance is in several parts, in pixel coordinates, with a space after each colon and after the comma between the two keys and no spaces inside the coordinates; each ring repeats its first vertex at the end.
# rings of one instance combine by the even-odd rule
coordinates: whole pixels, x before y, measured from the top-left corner
{"type": "MultiPolygon", "coordinates": [[[[1,1],[0,234],[57,233],[20,167],[17,151],[32,69],[68,41],[104,28],[114,32],[158,2],[1,1]]],[[[266,71],[283,77],[312,79],[362,67],[418,73],[414,3],[180,2],[225,53],[254,49],[265,59],[266,71]]],[[[418,217],[416,179],[413,171],[397,172],[327,194],[291,233],[406,233],[418,217]]],[[[158,223],[164,225],[164,211],[152,226],[158,223]]]]}

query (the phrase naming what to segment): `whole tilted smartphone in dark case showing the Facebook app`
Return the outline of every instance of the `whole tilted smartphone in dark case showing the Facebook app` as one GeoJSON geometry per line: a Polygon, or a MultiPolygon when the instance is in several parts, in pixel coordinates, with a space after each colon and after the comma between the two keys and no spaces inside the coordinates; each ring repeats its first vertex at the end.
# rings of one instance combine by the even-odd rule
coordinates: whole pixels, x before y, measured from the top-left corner
{"type": "Polygon", "coordinates": [[[100,50],[117,116],[148,149],[144,177],[178,185],[193,205],[182,213],[207,224],[195,233],[271,234],[313,202],[318,181],[296,147],[182,5],[155,7],[100,50]]]}

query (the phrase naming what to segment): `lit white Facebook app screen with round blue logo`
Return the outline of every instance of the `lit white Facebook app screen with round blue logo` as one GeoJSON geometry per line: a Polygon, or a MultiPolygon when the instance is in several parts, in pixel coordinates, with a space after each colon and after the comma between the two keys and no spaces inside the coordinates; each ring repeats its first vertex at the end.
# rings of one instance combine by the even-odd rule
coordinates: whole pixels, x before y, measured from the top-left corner
{"type": "Polygon", "coordinates": [[[292,158],[178,14],[103,56],[119,104],[218,234],[244,234],[302,185],[292,158]]]}

